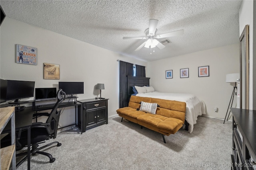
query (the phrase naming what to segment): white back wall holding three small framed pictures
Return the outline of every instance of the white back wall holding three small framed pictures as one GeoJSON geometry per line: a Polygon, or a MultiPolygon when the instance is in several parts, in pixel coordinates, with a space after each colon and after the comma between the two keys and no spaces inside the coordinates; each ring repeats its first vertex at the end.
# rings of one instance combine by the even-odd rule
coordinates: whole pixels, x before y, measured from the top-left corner
{"type": "Polygon", "coordinates": [[[195,94],[205,102],[209,117],[225,117],[234,86],[225,81],[231,73],[239,73],[239,44],[148,63],[150,85],[156,91],[195,94]],[[198,77],[198,66],[209,66],[210,76],[198,77]],[[189,68],[189,78],[180,78],[181,68],[189,68]],[[166,70],[173,70],[173,78],[165,78],[166,70]],[[214,107],[219,108],[218,113],[214,107]]]}

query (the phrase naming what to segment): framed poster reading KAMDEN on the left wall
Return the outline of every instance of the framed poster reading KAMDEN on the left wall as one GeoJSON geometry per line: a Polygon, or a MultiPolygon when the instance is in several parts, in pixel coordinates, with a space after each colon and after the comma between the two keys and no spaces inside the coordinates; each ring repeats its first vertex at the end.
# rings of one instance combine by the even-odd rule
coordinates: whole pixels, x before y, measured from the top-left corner
{"type": "Polygon", "coordinates": [[[16,63],[36,65],[36,52],[34,47],[16,44],[16,63]]]}

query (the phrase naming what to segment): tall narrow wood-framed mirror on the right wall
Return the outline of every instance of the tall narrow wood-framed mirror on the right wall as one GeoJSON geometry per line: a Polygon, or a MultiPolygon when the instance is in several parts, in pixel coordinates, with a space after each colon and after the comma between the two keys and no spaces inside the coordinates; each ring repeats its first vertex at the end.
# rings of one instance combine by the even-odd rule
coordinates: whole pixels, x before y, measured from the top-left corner
{"type": "Polygon", "coordinates": [[[249,109],[249,26],[240,36],[240,108],[249,109]]]}

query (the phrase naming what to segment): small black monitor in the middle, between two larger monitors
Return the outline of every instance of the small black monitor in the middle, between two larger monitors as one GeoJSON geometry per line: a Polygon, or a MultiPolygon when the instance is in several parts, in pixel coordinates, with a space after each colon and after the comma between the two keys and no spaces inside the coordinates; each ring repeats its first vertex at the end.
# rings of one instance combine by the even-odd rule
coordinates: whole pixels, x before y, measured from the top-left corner
{"type": "Polygon", "coordinates": [[[35,88],[36,100],[56,99],[56,88],[35,88]]]}

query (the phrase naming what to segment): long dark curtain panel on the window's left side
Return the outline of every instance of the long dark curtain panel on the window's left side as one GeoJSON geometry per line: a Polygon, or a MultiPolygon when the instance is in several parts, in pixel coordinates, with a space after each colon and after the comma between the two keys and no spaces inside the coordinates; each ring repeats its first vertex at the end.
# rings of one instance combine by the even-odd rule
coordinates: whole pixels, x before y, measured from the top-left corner
{"type": "Polygon", "coordinates": [[[119,108],[128,106],[127,76],[133,76],[133,64],[119,61],[119,108]]]}

